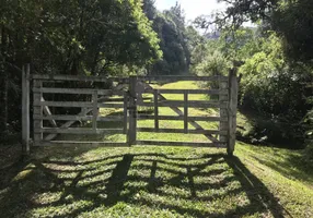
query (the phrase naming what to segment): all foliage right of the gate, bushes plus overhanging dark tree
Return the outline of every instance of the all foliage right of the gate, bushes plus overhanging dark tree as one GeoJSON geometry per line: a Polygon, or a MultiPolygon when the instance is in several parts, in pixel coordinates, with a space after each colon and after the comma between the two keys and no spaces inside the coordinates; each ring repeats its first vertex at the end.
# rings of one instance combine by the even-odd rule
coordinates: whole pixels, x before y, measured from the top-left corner
{"type": "MultiPolygon", "coordinates": [[[[310,147],[313,130],[312,2],[224,2],[228,9],[217,13],[213,22],[205,17],[196,20],[196,24],[205,28],[218,24],[222,37],[208,43],[215,45],[213,49],[208,49],[210,46],[199,48],[210,52],[201,52],[208,57],[196,62],[195,73],[199,73],[197,68],[206,65],[207,73],[215,74],[216,60],[220,60],[220,73],[224,73],[231,62],[241,75],[241,108],[268,120],[256,122],[254,135],[271,143],[286,141],[291,147],[301,147],[306,141],[310,147]],[[258,27],[241,27],[248,21],[258,23],[258,27]],[[228,61],[222,62],[223,59],[228,61]]],[[[312,152],[308,154],[312,158],[312,152]]]]}

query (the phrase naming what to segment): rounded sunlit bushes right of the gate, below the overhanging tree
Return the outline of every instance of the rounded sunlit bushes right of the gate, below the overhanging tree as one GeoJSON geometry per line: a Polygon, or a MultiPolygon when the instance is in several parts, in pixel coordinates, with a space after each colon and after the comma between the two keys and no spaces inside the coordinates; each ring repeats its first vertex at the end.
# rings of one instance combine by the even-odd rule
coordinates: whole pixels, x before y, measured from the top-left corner
{"type": "Polygon", "coordinates": [[[228,74],[235,64],[241,76],[240,107],[264,117],[256,122],[251,140],[300,148],[304,142],[303,117],[312,107],[311,89],[303,84],[312,70],[303,63],[288,61],[281,39],[271,32],[241,28],[232,36],[225,32],[219,39],[198,46],[193,72],[198,75],[228,74]]]}

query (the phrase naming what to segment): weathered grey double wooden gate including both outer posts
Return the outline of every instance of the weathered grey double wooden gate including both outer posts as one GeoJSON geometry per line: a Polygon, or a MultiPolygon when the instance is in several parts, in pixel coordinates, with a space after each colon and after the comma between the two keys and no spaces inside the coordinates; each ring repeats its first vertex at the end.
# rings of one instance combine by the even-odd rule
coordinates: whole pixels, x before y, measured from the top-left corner
{"type": "Polygon", "coordinates": [[[30,150],[30,83],[33,82],[33,145],[169,145],[194,147],[224,147],[232,154],[235,143],[237,80],[234,71],[229,76],[130,76],[114,78],[101,76],[30,75],[23,70],[23,144],[30,150]],[[197,81],[213,82],[216,89],[158,89],[150,82],[197,81]],[[74,87],[77,84],[77,87],[74,87]],[[70,87],[71,86],[71,87],[70,87]],[[103,88],[106,87],[106,88],[103,88]],[[109,87],[109,88],[108,88],[109,87]],[[143,94],[152,95],[144,101],[143,94]],[[164,95],[182,95],[183,100],[169,100],[164,95]],[[210,100],[190,100],[190,95],[213,95],[210,100]],[[58,96],[66,100],[56,100],[58,96]],[[79,97],[78,96],[82,96],[79,97]],[[72,99],[72,100],[71,100],[72,99]],[[153,108],[153,114],[138,113],[138,107],[153,108]],[[159,108],[169,107],[176,116],[160,116],[159,108]],[[55,110],[54,108],[61,108],[55,110]],[[216,117],[189,116],[189,108],[215,108],[216,117]],[[108,109],[115,116],[102,114],[108,109]],[[55,113],[58,111],[58,113],[55,113]],[[154,128],[138,128],[140,120],[154,120],[154,128]],[[182,121],[184,129],[162,129],[160,121],[182,121]],[[219,122],[218,130],[205,130],[198,122],[219,122]],[[102,122],[121,122],[123,128],[106,129],[102,122]],[[189,129],[192,125],[193,129],[189,129]],[[137,133],[202,134],[210,143],[140,141],[137,133]],[[124,134],[124,142],[91,142],[88,135],[124,134]],[[84,135],[85,141],[65,141],[61,135],[84,135]]]}

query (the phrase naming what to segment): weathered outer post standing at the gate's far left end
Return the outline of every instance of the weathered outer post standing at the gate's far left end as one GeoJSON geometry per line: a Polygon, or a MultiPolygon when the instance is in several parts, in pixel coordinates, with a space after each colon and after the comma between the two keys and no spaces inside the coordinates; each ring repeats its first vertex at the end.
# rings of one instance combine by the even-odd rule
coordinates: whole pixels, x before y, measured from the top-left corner
{"type": "Polygon", "coordinates": [[[23,155],[30,154],[30,64],[22,69],[22,146],[23,155]]]}

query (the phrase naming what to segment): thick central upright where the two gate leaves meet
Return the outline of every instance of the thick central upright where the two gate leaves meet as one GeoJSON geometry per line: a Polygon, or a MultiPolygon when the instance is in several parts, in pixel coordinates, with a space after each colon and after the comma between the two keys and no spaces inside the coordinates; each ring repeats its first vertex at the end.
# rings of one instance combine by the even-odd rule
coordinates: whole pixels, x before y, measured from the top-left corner
{"type": "Polygon", "coordinates": [[[129,77],[129,131],[127,134],[127,143],[129,146],[135,145],[137,141],[137,77],[129,77]]]}

